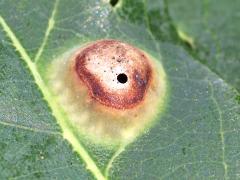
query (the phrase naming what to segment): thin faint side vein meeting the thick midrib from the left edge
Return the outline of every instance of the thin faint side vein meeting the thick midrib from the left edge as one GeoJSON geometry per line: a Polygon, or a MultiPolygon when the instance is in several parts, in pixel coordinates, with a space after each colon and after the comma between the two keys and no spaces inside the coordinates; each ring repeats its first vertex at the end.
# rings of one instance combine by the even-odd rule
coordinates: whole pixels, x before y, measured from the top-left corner
{"type": "Polygon", "coordinates": [[[0,124],[4,125],[4,126],[8,126],[8,127],[13,127],[13,128],[17,128],[17,129],[27,130],[27,131],[60,135],[60,132],[41,130],[41,129],[38,129],[38,128],[31,128],[31,127],[27,127],[27,126],[23,126],[23,125],[19,125],[19,124],[13,124],[13,123],[4,122],[4,121],[0,121],[0,124]]]}

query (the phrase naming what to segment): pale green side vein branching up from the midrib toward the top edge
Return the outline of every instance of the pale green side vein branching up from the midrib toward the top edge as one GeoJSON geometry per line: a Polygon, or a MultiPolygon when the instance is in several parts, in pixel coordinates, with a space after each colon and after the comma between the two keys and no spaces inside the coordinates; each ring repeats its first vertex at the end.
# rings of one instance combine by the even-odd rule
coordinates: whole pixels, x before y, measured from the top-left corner
{"type": "Polygon", "coordinates": [[[55,4],[54,4],[54,7],[53,7],[52,15],[48,20],[48,26],[47,26],[47,30],[45,32],[45,36],[43,38],[43,42],[42,42],[42,44],[41,44],[40,48],[38,49],[38,52],[35,56],[35,59],[34,59],[35,62],[38,62],[39,58],[41,57],[42,52],[44,50],[44,47],[46,46],[48,37],[49,37],[49,35],[50,35],[54,25],[55,25],[55,20],[54,19],[55,19],[55,15],[57,13],[58,4],[59,4],[59,0],[56,0],[55,4]]]}

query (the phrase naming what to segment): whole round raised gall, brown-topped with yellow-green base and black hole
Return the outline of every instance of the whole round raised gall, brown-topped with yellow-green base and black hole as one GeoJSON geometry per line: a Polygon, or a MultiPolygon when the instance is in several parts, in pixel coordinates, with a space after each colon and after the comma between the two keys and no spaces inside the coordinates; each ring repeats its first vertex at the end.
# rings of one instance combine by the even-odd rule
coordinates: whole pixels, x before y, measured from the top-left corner
{"type": "Polygon", "coordinates": [[[162,111],[164,70],[118,40],[74,48],[53,61],[49,81],[73,128],[97,143],[125,143],[162,111]]]}

